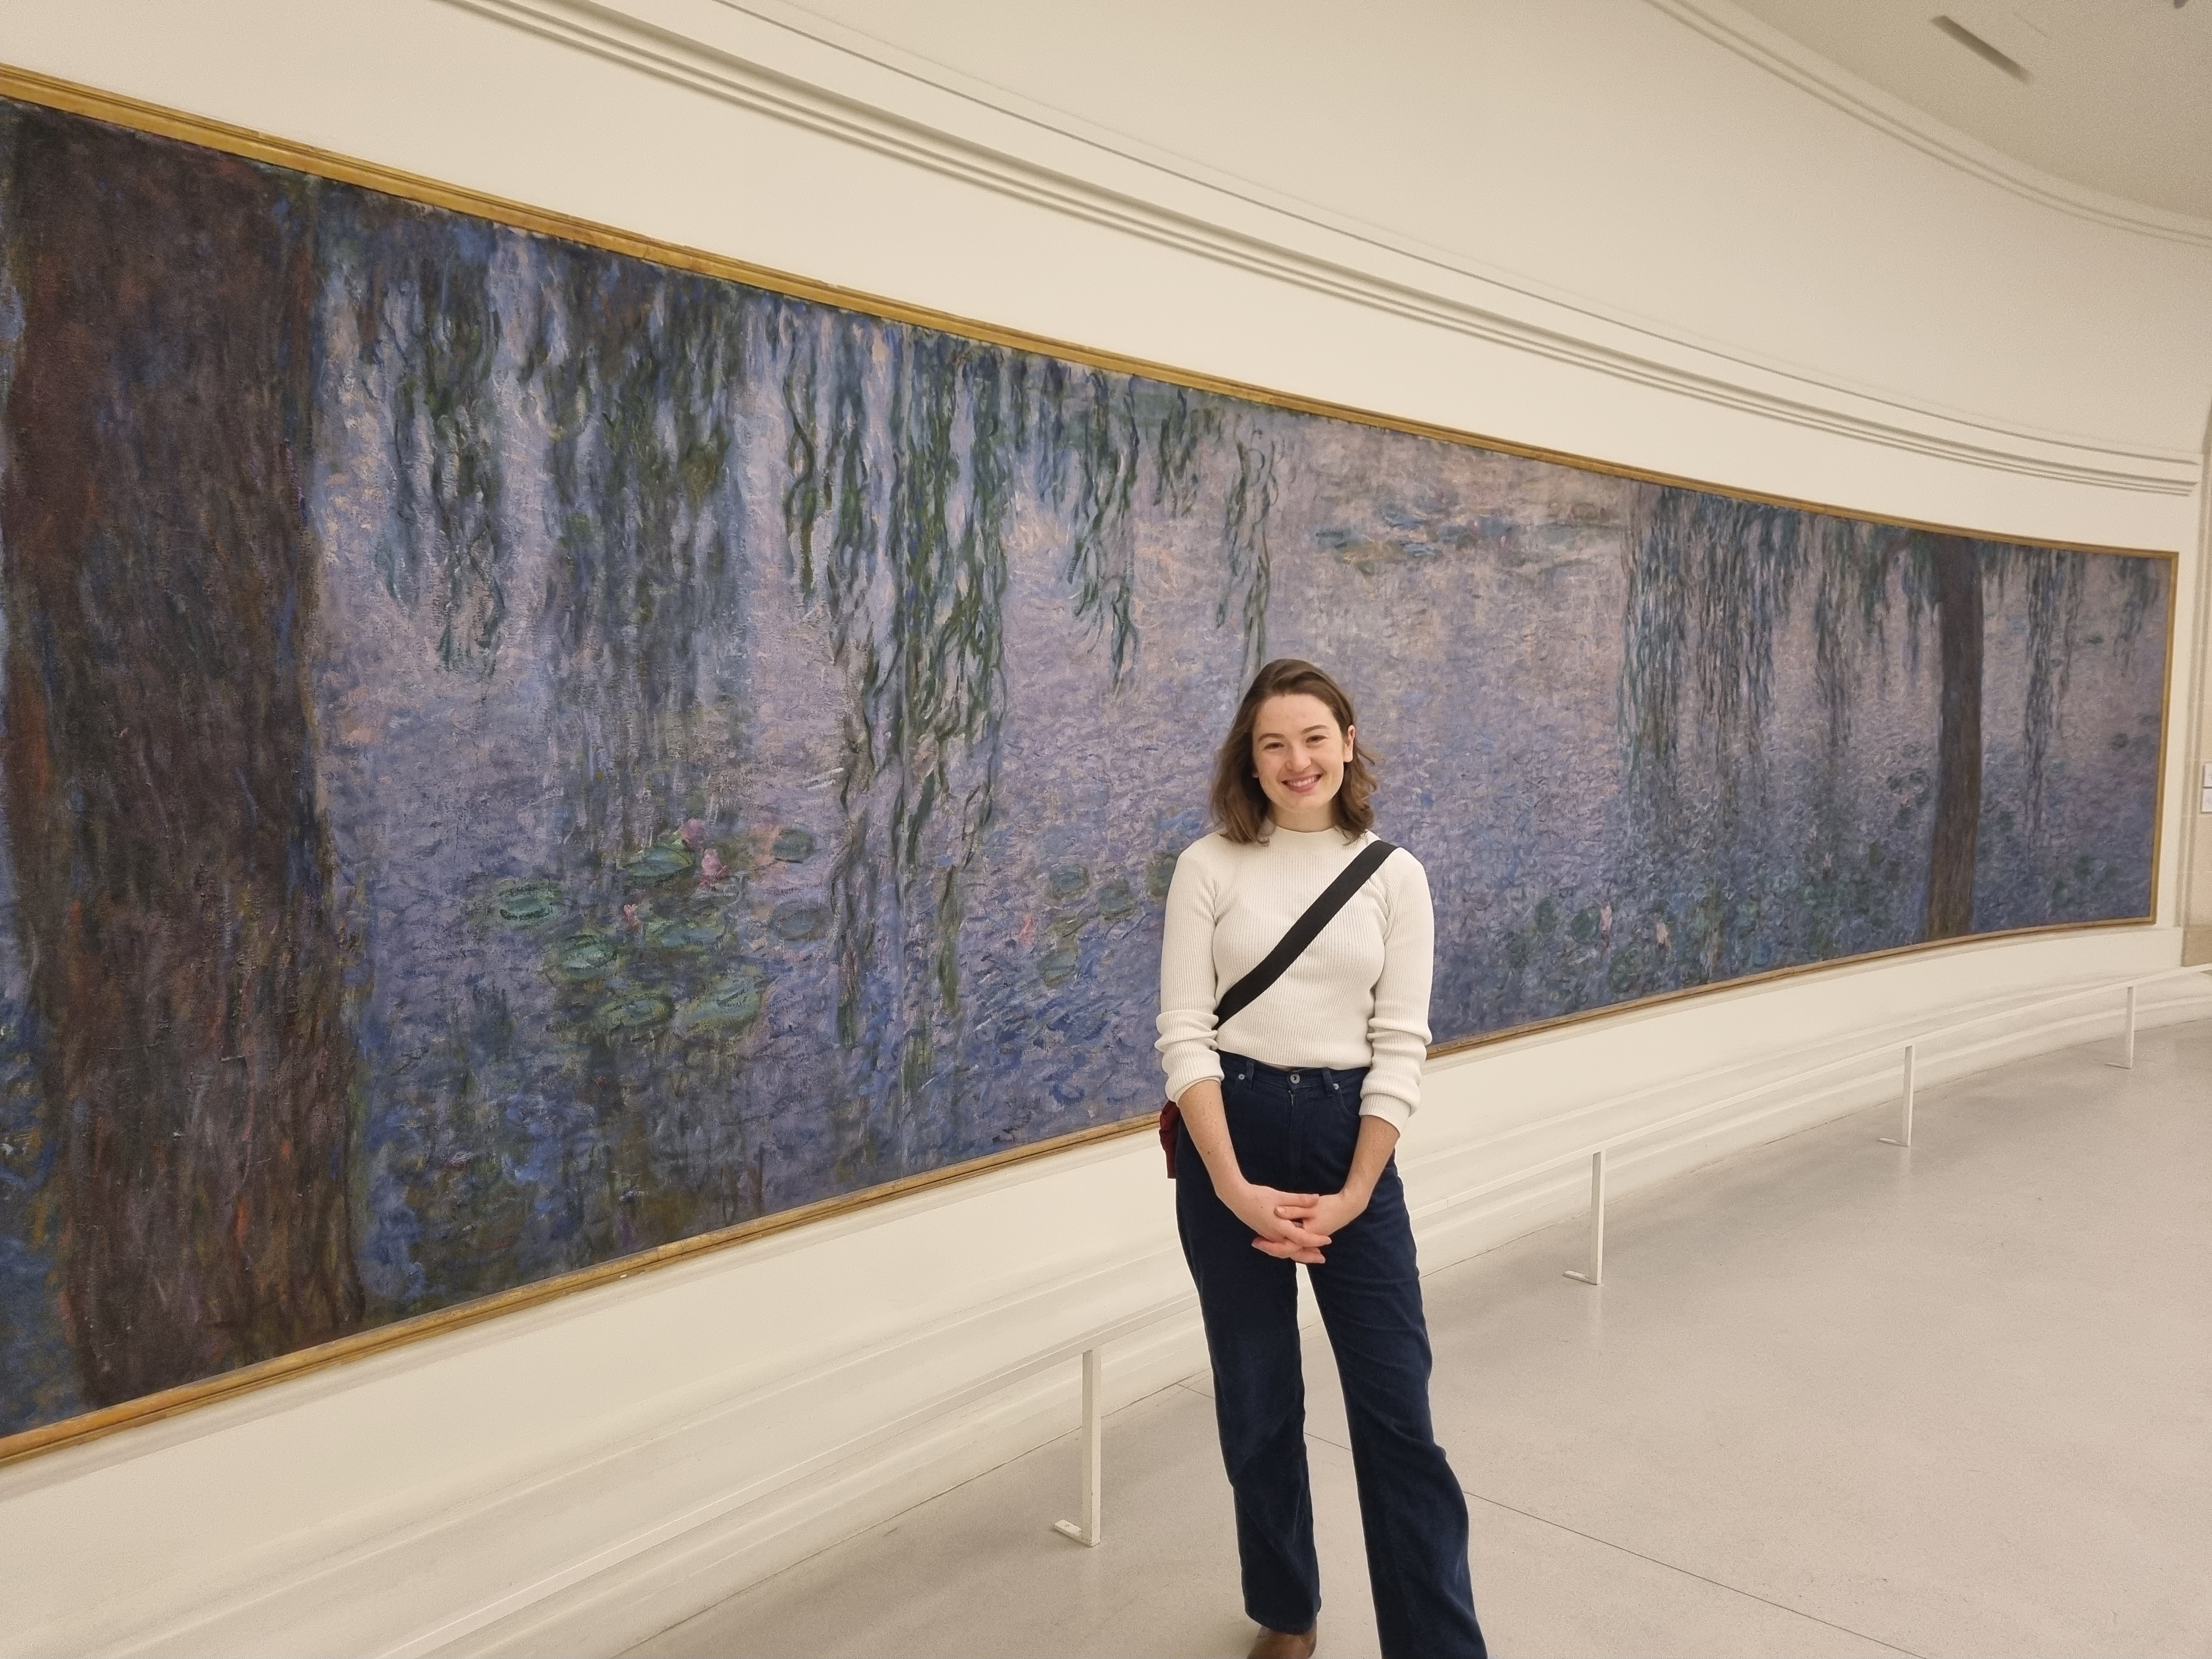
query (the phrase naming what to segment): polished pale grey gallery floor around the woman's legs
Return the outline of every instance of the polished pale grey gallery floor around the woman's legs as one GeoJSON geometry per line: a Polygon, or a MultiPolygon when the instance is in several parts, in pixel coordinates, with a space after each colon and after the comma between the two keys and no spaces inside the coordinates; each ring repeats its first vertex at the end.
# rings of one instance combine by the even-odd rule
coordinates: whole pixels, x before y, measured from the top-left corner
{"type": "MultiPolygon", "coordinates": [[[[2212,1024],[1927,1091],[1433,1274],[1436,1416],[1498,1655],[2212,1652],[2212,1024]]],[[[1327,1343],[1327,1606],[1376,1652],[1327,1343]]],[[[1203,1374],[637,1655],[1241,1655],[1203,1374]]]]}

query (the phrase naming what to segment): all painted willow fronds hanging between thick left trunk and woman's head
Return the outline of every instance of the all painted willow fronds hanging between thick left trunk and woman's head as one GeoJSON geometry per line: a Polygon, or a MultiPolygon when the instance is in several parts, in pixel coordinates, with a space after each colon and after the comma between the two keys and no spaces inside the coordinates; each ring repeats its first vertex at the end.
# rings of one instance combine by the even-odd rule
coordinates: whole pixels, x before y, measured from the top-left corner
{"type": "MultiPolygon", "coordinates": [[[[1219,522],[1214,622],[1267,650],[1265,422],[1208,394],[493,234],[356,237],[352,305],[392,409],[387,591],[434,611],[447,668],[511,628],[502,453],[544,434],[540,641],[562,745],[557,841],[606,869],[714,787],[703,719],[741,661],[743,442],[770,431],[783,557],[847,686],[830,872],[836,1033],[898,1102],[949,1075],[960,933],[1004,754],[1009,542],[1057,577],[1110,690],[1139,664],[1139,518],[1219,522]],[[414,248],[414,252],[409,252],[414,248]],[[431,257],[436,254],[436,257],[431,257]],[[520,270],[520,265],[515,265],[520,270]],[[500,385],[518,385],[502,403],[500,385]],[[1219,520],[1210,515],[1219,511],[1219,520]],[[1026,526],[1026,529],[1024,529],[1026,526]]],[[[911,1148],[900,1148],[900,1152],[911,1148]]]]}

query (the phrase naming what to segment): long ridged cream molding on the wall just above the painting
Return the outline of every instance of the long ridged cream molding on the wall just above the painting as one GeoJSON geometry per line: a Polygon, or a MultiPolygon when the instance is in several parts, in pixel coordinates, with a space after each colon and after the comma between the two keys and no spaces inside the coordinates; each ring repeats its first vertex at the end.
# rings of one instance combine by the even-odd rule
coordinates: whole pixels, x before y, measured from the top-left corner
{"type": "MultiPolygon", "coordinates": [[[[743,7],[710,2],[728,29],[750,38],[732,46],[710,40],[708,29],[668,27],[641,15],[684,13],[684,0],[447,0],[1029,206],[1617,380],[1887,449],[2066,484],[2188,495],[2199,482],[2199,458],[2190,451],[2008,427],[1674,338],[1590,303],[1469,270],[1436,250],[1310,204],[1265,199],[1267,192],[1248,181],[1201,177],[1186,161],[1170,166],[1137,155],[1126,139],[1102,144],[1099,135],[1073,131],[1077,124],[1068,117],[1020,108],[998,88],[958,84],[960,77],[942,66],[902,60],[880,42],[865,42],[863,51],[852,40],[834,38],[841,31],[816,27],[818,20],[799,27],[790,20],[792,9],[763,15],[759,0],[743,7]],[[779,49],[796,49],[796,69],[792,53],[779,49]],[[902,111],[914,106],[916,93],[925,95],[925,104],[929,95],[938,100],[922,117],[902,111]]],[[[692,24],[699,15],[699,7],[690,7],[684,22],[692,24]]]]}

